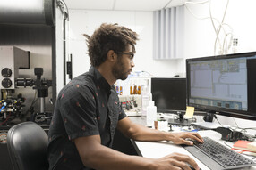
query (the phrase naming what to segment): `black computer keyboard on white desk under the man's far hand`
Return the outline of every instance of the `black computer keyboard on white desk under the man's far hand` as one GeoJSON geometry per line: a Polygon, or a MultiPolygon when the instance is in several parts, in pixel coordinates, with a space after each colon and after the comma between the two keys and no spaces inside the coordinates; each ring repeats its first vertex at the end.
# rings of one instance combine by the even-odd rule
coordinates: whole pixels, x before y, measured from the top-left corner
{"type": "Polygon", "coordinates": [[[194,142],[193,146],[183,145],[195,158],[198,158],[205,166],[212,170],[235,169],[248,166],[256,166],[249,158],[228,149],[226,146],[203,137],[204,142],[194,142]]]}

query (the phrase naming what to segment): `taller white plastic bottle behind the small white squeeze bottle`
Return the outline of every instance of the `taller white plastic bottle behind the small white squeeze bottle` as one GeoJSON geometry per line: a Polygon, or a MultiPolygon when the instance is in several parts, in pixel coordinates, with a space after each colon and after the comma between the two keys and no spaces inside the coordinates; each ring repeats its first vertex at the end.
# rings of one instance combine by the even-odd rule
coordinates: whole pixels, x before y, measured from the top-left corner
{"type": "Polygon", "coordinates": [[[141,115],[147,116],[147,107],[149,101],[152,99],[152,94],[149,92],[149,87],[147,85],[141,86],[141,115]]]}

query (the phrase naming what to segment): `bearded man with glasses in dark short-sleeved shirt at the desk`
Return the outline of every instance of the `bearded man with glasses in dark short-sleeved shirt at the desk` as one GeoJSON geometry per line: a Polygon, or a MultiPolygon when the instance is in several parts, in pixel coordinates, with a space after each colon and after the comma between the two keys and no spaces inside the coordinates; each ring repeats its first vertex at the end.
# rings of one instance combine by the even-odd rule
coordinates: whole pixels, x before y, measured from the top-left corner
{"type": "MultiPolygon", "coordinates": [[[[85,35],[86,36],[86,35],[85,35]]],[[[59,93],[49,130],[49,169],[199,169],[183,154],[164,158],[129,156],[111,149],[115,128],[138,141],[202,142],[196,133],[166,133],[132,123],[115,92],[115,81],[126,79],[134,67],[137,34],[117,24],[102,24],[86,36],[91,68],[75,77],[59,93]]]]}

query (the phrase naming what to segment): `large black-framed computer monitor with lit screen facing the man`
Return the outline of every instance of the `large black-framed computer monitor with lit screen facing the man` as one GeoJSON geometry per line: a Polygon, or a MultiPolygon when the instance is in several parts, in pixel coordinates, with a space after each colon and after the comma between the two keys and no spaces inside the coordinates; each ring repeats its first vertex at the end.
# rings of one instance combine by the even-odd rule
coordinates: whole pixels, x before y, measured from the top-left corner
{"type": "Polygon", "coordinates": [[[186,60],[187,104],[256,120],[256,52],[186,60]]]}

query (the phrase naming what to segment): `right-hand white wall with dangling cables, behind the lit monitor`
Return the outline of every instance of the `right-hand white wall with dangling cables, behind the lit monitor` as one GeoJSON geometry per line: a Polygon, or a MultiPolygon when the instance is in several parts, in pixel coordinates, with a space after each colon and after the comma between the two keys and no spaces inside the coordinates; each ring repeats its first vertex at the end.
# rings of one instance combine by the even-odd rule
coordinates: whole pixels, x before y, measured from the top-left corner
{"type": "MultiPolygon", "coordinates": [[[[227,1],[212,0],[213,17],[222,20],[227,1]]],[[[209,4],[190,5],[192,12],[197,16],[209,16],[209,4]]],[[[256,1],[231,0],[226,11],[225,23],[234,31],[238,38],[237,53],[256,51],[256,1]]],[[[215,32],[210,20],[197,20],[188,10],[185,10],[185,58],[195,58],[214,55],[215,32]]],[[[223,36],[221,36],[223,38],[223,36]]],[[[232,53],[230,51],[229,53],[232,53]]],[[[180,62],[178,69],[185,72],[185,62],[180,62]]],[[[255,121],[233,119],[218,116],[219,121],[226,125],[240,127],[255,127],[255,121]]],[[[255,134],[255,131],[254,131],[255,134]]]]}

